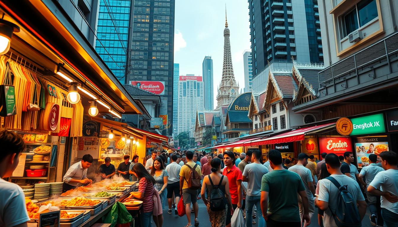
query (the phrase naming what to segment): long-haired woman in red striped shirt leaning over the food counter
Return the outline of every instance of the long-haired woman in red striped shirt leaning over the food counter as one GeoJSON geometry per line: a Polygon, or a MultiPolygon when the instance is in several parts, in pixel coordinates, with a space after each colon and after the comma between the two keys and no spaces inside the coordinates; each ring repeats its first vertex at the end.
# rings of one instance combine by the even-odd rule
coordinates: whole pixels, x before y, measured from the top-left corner
{"type": "Polygon", "coordinates": [[[133,166],[133,175],[140,179],[138,192],[130,192],[127,198],[135,197],[142,200],[143,213],[140,215],[140,222],[142,227],[151,227],[150,217],[153,213],[153,195],[155,179],[148,173],[141,163],[133,166]]]}

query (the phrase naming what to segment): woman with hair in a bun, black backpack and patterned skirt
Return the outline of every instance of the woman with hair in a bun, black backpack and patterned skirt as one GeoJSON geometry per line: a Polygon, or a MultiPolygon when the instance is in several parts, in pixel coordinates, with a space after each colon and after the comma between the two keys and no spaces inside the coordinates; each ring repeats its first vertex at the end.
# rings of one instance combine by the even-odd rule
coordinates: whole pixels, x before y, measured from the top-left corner
{"type": "Polygon", "coordinates": [[[203,178],[201,196],[207,206],[211,227],[225,227],[226,212],[234,212],[228,178],[220,174],[220,159],[211,160],[210,165],[212,173],[203,178]],[[206,190],[207,198],[205,197],[206,190]]]}

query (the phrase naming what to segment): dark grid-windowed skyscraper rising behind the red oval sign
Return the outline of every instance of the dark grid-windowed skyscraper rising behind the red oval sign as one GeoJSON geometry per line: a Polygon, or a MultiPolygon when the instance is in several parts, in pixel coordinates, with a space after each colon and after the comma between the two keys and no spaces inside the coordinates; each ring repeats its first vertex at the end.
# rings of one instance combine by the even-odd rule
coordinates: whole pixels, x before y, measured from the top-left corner
{"type": "MultiPolygon", "coordinates": [[[[130,81],[164,84],[160,114],[173,123],[173,50],[175,0],[134,1],[130,81]]],[[[141,84],[141,83],[140,83],[141,84]]]]}

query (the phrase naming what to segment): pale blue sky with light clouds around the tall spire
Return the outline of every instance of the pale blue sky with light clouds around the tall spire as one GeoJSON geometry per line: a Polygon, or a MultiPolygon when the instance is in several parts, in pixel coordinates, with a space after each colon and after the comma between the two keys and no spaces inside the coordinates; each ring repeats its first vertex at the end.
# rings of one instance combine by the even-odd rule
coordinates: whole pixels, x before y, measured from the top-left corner
{"type": "Polygon", "coordinates": [[[243,52],[250,49],[250,22],[246,0],[176,0],[174,63],[179,74],[202,75],[205,56],[213,59],[214,107],[222,74],[225,4],[230,29],[232,64],[240,88],[244,87],[243,52]]]}

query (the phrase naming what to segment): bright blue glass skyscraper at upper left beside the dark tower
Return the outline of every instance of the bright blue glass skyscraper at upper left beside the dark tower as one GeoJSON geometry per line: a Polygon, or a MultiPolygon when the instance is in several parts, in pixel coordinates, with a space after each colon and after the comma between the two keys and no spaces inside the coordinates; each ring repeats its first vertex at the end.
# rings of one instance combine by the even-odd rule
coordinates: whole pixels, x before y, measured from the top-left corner
{"type": "Polygon", "coordinates": [[[124,84],[131,0],[99,2],[95,48],[116,78],[124,84]]]}

